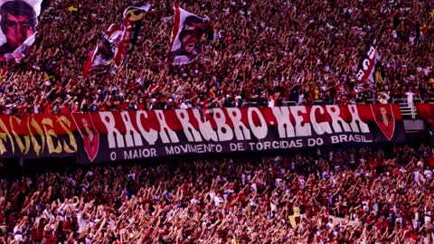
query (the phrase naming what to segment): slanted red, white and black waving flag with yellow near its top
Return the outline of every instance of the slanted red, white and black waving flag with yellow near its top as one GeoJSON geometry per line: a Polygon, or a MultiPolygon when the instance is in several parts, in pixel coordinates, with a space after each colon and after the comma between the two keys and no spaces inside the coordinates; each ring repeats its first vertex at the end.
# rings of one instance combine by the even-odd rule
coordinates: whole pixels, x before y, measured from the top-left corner
{"type": "Polygon", "coordinates": [[[127,55],[131,54],[137,42],[145,13],[150,5],[128,6],[123,13],[122,24],[111,24],[109,30],[103,34],[98,46],[90,52],[89,59],[84,66],[86,76],[90,70],[105,69],[111,61],[120,65],[127,55]]]}

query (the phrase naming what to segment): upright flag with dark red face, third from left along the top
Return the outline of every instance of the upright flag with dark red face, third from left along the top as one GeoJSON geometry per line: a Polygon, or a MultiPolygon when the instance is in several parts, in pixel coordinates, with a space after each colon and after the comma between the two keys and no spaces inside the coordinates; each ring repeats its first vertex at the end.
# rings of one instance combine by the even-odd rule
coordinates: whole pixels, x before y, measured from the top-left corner
{"type": "Polygon", "coordinates": [[[183,65],[194,61],[202,54],[201,42],[208,17],[199,17],[174,3],[174,32],[168,55],[170,64],[183,65]]]}

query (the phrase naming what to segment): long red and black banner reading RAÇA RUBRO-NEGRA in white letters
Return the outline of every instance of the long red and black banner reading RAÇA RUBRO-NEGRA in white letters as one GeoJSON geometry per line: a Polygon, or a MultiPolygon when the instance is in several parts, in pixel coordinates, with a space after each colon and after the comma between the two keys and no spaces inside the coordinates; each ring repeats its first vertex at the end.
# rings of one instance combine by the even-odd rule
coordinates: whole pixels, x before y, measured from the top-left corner
{"type": "MultiPolygon", "coordinates": [[[[83,114],[72,116],[75,121],[83,119],[83,114]]],[[[99,133],[99,152],[95,156],[81,150],[81,162],[403,142],[405,138],[397,105],[213,108],[209,117],[198,109],[100,112],[92,115],[90,128],[99,133]]],[[[89,144],[87,136],[82,140],[89,144]]],[[[87,152],[95,150],[96,145],[87,152]]]]}

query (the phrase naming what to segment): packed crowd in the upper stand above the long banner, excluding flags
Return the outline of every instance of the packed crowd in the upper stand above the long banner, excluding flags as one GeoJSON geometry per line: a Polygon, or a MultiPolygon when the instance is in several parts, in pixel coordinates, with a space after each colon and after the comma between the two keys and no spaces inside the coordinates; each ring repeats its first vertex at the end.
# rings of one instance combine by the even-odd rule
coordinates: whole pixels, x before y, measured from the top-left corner
{"type": "Polygon", "coordinates": [[[211,18],[204,53],[168,66],[172,1],[150,1],[135,52],[116,72],[83,65],[127,0],[44,1],[37,41],[21,63],[1,63],[0,113],[241,107],[434,98],[432,1],[186,0],[211,18]],[[375,35],[386,80],[355,86],[375,35]]]}

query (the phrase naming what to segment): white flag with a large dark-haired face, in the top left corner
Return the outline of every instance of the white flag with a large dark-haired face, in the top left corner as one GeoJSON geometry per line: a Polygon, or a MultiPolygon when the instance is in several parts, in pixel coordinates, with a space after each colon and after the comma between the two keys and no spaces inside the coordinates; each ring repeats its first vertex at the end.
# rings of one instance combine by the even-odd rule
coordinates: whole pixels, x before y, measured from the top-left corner
{"type": "Polygon", "coordinates": [[[35,41],[42,0],[0,0],[0,61],[21,61],[35,41]]]}

